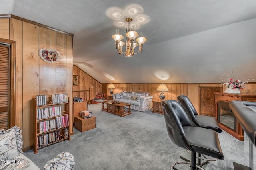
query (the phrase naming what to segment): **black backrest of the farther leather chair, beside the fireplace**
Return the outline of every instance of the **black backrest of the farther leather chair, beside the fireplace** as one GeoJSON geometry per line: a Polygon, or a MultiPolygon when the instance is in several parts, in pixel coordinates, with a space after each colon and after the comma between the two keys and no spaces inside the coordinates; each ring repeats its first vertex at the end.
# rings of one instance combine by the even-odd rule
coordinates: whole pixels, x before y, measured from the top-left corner
{"type": "Polygon", "coordinates": [[[193,104],[191,103],[191,101],[189,100],[188,96],[180,95],[177,97],[177,100],[180,103],[180,105],[182,106],[182,108],[184,109],[184,111],[186,111],[190,120],[192,120],[192,124],[194,126],[200,127],[199,123],[195,117],[195,115],[198,115],[198,113],[197,113],[195,107],[193,106],[193,104]]]}

